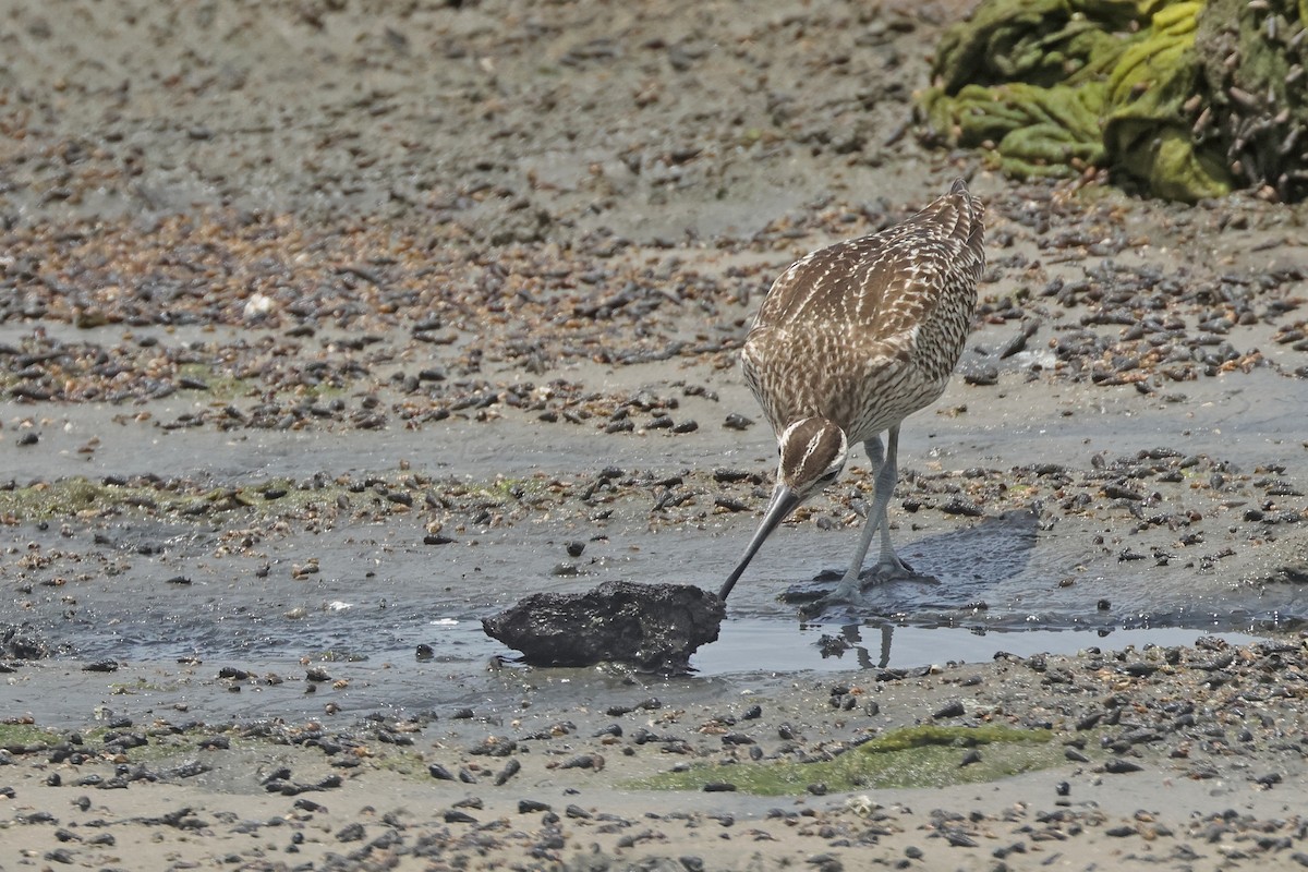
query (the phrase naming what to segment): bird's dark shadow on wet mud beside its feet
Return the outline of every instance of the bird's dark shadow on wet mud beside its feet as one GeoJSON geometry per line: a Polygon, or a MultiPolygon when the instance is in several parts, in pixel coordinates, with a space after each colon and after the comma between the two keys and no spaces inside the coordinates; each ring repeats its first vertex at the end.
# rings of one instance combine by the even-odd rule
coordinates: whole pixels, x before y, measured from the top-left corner
{"type": "MultiPolygon", "coordinates": [[[[900,556],[922,579],[895,579],[863,588],[862,603],[833,605],[806,618],[820,622],[857,622],[863,618],[901,618],[914,612],[976,608],[998,582],[1028,567],[1040,519],[1031,511],[1008,511],[972,527],[927,536],[905,546],[900,556]],[[934,579],[931,578],[934,577],[934,579]],[[937,580],[939,583],[931,583],[937,580]]],[[[842,573],[824,571],[810,582],[791,584],[781,600],[811,604],[835,588],[842,573]]]]}

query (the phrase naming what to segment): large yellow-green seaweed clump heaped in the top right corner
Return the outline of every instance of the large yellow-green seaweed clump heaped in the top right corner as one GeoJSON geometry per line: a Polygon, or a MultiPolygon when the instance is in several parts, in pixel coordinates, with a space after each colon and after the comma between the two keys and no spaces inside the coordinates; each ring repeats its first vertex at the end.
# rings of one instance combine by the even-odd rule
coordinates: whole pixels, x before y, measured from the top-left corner
{"type": "Polygon", "coordinates": [[[1308,195],[1308,0],[984,0],[920,97],[1014,178],[1107,167],[1155,196],[1308,195]]]}

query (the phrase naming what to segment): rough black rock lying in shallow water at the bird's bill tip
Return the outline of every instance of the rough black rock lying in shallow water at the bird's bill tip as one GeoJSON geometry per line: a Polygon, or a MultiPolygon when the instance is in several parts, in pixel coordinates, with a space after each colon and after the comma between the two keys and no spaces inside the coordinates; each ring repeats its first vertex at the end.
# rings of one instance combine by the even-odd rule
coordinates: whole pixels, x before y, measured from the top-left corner
{"type": "Polygon", "coordinates": [[[701,645],[718,638],[726,607],[691,584],[604,582],[585,594],[532,594],[481,626],[535,665],[630,663],[684,672],[701,645]]]}

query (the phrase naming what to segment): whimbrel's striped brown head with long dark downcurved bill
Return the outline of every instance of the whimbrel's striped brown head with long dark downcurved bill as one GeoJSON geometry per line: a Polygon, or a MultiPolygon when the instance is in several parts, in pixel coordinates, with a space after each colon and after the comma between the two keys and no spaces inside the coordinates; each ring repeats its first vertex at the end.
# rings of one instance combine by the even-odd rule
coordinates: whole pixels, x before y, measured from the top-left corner
{"type": "Polygon", "coordinates": [[[799,503],[836,481],[849,456],[849,439],[833,421],[823,417],[800,418],[777,437],[777,484],[772,502],[763,514],[763,523],[749,540],[744,557],[727,577],[719,596],[727,597],[744,567],[753,560],[764,540],[781,526],[799,503]]]}

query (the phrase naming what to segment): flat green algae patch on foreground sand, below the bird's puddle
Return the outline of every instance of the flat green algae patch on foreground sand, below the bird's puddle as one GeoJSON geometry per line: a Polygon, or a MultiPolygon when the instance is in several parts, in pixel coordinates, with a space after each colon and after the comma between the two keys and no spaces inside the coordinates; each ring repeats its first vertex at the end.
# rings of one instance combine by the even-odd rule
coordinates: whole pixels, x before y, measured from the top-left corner
{"type": "Polygon", "coordinates": [[[823,784],[829,792],[867,787],[948,787],[999,780],[1049,769],[1063,761],[1048,729],[1012,727],[901,727],[871,739],[838,757],[815,763],[763,761],[695,766],[661,773],[629,786],[645,790],[704,790],[730,783],[761,796],[807,792],[823,784]],[[968,765],[971,750],[978,757],[968,765]]]}

